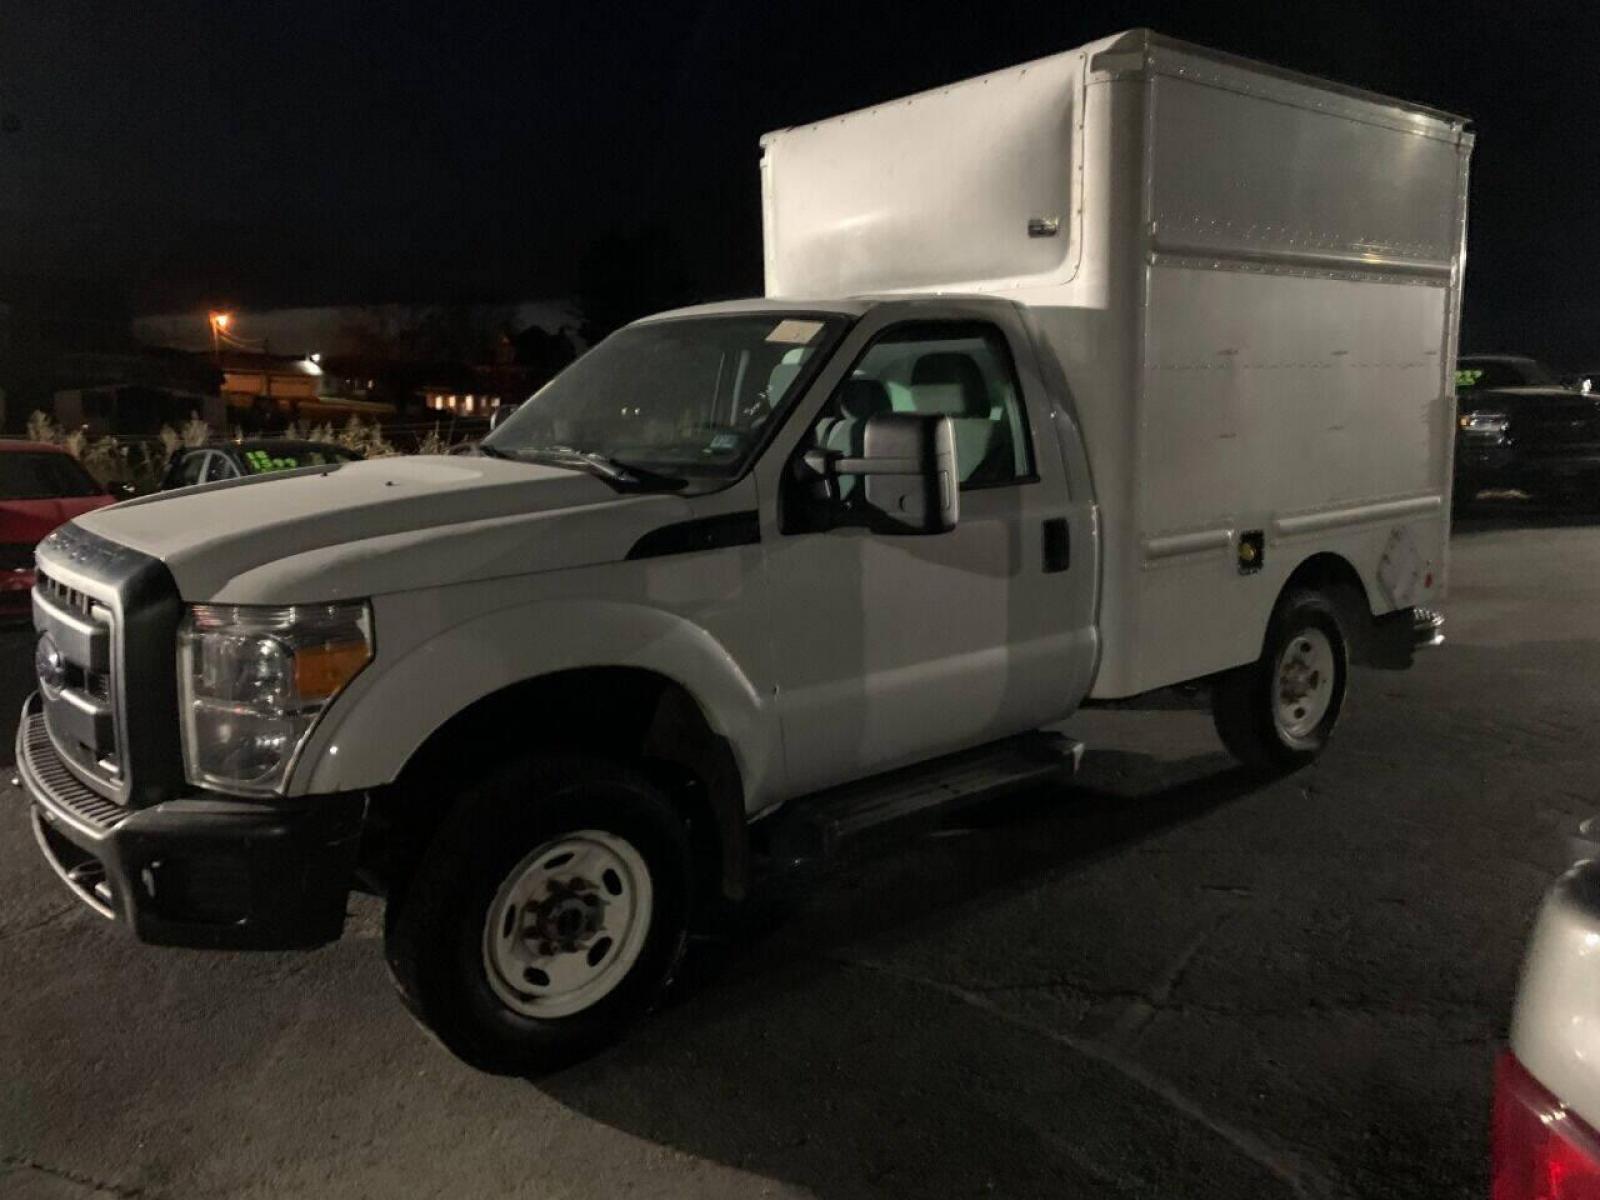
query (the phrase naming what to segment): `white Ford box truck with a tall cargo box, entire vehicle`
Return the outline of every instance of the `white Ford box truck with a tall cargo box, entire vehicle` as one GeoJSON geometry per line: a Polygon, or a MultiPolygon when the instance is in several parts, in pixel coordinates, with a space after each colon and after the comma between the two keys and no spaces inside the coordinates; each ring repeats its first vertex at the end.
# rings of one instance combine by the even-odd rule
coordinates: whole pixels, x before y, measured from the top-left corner
{"type": "Polygon", "coordinates": [[[477,458],[203,485],[38,549],[38,843],[158,944],[339,936],[539,1069],[696,912],[1198,682],[1262,771],[1438,638],[1461,118],[1146,32],[763,139],[766,291],[477,458]]]}

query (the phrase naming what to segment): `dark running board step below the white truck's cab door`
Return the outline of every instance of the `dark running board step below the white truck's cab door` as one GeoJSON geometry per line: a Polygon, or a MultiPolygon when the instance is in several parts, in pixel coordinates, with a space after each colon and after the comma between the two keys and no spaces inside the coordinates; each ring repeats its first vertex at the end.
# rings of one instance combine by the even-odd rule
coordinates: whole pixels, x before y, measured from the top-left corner
{"type": "Polygon", "coordinates": [[[968,805],[1070,779],[1083,742],[1029,733],[794,800],[771,818],[776,864],[835,858],[867,834],[904,837],[968,805]]]}

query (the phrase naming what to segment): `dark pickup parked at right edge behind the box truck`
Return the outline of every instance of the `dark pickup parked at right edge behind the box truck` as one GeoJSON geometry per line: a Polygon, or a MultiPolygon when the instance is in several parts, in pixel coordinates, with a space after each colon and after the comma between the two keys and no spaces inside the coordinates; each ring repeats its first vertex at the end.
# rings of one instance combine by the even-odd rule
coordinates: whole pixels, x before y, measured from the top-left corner
{"type": "Polygon", "coordinates": [[[1600,395],[1570,387],[1458,394],[1454,501],[1486,490],[1600,509],[1600,395]]]}

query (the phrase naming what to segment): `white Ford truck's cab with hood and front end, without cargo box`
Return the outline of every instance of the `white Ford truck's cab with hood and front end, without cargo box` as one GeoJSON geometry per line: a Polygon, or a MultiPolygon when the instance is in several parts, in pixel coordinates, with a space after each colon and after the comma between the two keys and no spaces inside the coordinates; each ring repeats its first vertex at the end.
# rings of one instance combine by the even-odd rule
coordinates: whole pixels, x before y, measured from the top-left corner
{"type": "MultiPolygon", "coordinates": [[[[501,845],[507,797],[549,790],[520,773],[571,781],[589,819],[605,781],[653,853],[558,840],[544,859],[587,874],[534,864],[525,886],[581,899],[531,958],[526,899],[515,946],[485,949],[512,1011],[549,1022],[526,997],[571,997],[504,962],[554,981],[597,946],[622,973],[672,958],[630,933],[739,896],[749,821],[1082,701],[1085,462],[1010,301],[754,301],[622,330],[477,458],[123,504],[38,555],[19,765],[40,843],[146,941],[310,946],[357,875],[414,894],[453,822],[469,856],[501,845]]],[[[459,886],[459,867],[437,869],[459,886]]],[[[446,939],[408,930],[397,976],[427,1005],[398,947],[430,962],[446,939]]]]}

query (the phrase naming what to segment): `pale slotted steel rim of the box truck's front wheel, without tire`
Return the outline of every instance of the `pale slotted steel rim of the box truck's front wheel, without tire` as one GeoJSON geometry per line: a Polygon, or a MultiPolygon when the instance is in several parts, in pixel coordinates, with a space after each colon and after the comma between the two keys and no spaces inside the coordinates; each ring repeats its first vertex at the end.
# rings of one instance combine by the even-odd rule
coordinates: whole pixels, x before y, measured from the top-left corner
{"type": "Polygon", "coordinates": [[[630,842],[582,829],[522,859],[483,917],[483,971],[515,1013],[562,1018],[611,994],[650,933],[650,869],[630,842]]]}

